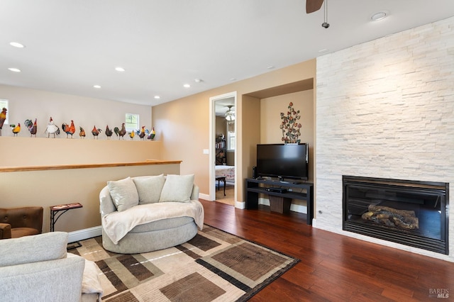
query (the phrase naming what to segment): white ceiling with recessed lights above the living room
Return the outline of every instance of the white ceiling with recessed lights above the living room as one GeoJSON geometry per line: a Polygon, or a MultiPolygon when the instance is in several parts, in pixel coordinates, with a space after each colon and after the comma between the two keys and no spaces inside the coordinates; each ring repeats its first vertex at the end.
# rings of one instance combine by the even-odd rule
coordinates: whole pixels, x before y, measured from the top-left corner
{"type": "Polygon", "coordinates": [[[0,0],[0,84],[154,106],[454,16],[453,0],[330,0],[326,29],[305,3],[0,0]]]}

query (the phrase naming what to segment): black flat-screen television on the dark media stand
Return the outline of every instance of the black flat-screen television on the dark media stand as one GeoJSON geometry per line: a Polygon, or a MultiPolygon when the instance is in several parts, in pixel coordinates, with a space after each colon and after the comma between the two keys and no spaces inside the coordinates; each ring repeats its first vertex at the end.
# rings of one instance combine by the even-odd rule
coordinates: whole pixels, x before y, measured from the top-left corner
{"type": "Polygon", "coordinates": [[[307,180],[309,144],[257,145],[257,176],[307,180]]]}

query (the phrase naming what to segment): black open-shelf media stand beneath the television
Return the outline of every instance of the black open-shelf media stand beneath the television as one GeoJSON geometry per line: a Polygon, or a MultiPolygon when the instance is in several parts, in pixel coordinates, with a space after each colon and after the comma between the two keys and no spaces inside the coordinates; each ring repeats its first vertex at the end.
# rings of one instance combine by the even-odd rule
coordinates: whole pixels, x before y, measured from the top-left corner
{"type": "MultiPolygon", "coordinates": [[[[272,201],[280,203],[279,211],[282,213],[282,205],[287,203],[289,208],[292,199],[304,200],[307,204],[306,223],[312,225],[312,219],[314,218],[314,184],[311,182],[301,181],[278,181],[272,179],[246,179],[246,209],[258,208],[258,196],[259,194],[265,194],[270,197],[270,203],[272,201]],[[292,191],[279,192],[274,189],[287,189],[292,191]],[[272,191],[268,191],[272,189],[272,191]],[[297,190],[297,191],[295,191],[297,190]],[[302,191],[305,192],[302,192],[302,191]]],[[[272,203],[271,203],[272,204],[272,203]]],[[[272,211],[273,209],[272,204],[272,211]]]]}

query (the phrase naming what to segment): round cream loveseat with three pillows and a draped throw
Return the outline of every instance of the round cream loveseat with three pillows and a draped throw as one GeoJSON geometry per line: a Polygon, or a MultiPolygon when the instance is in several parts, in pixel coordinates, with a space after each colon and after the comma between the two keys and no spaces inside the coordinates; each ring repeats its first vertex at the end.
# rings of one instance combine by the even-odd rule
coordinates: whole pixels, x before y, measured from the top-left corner
{"type": "Polygon", "coordinates": [[[137,254],[192,239],[203,228],[204,208],[194,175],[156,175],[108,181],[100,194],[106,250],[137,254]]]}

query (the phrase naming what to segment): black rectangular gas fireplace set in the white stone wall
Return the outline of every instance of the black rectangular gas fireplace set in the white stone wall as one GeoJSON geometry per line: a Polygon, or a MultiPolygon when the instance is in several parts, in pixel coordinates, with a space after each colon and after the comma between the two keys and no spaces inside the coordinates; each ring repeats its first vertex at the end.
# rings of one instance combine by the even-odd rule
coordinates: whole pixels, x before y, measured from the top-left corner
{"type": "Polygon", "coordinates": [[[449,184],[343,176],[343,230],[448,255],[449,184]]]}

